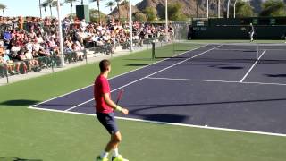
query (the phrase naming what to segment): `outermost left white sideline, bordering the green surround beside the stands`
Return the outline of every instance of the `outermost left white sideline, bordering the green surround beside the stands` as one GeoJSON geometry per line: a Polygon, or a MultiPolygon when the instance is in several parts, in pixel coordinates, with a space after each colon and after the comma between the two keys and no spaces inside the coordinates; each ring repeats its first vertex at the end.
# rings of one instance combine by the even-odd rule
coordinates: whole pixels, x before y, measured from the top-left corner
{"type": "MultiPolygon", "coordinates": [[[[208,44],[206,44],[206,45],[204,45],[204,46],[202,46],[202,47],[206,47],[206,46],[208,46],[208,44]]],[[[189,52],[192,52],[192,51],[194,51],[194,50],[198,50],[199,48],[202,48],[202,47],[193,48],[193,49],[191,49],[191,50],[189,50],[189,51],[186,51],[186,52],[184,52],[184,53],[181,53],[181,54],[179,54],[179,55],[184,55],[184,54],[189,53],[189,52]]],[[[164,62],[164,61],[166,61],[166,60],[168,60],[168,59],[171,59],[171,58],[176,57],[176,56],[179,56],[179,55],[172,55],[172,57],[170,57],[170,58],[165,58],[165,59],[160,60],[160,61],[157,61],[157,62],[155,62],[155,63],[153,63],[153,64],[148,64],[148,65],[146,65],[146,66],[142,66],[142,67],[140,67],[140,68],[131,70],[131,71],[129,71],[129,72],[124,72],[124,73],[119,74],[119,75],[116,75],[116,76],[114,76],[114,77],[112,77],[112,78],[110,78],[110,79],[108,79],[108,80],[113,80],[113,79],[115,79],[115,78],[117,78],[117,77],[121,77],[121,76],[126,75],[126,74],[128,74],[128,73],[130,73],[130,72],[139,71],[140,69],[147,68],[148,66],[151,66],[151,65],[154,65],[154,64],[159,64],[159,63],[161,63],[161,62],[164,62]]],[[[45,101],[43,101],[43,102],[40,102],[40,103],[38,103],[38,104],[35,104],[35,105],[33,105],[33,106],[38,106],[38,105],[40,105],[40,104],[46,103],[46,102],[51,101],[51,100],[53,100],[53,99],[56,99],[56,98],[58,98],[58,97],[64,97],[64,96],[70,95],[71,93],[77,92],[77,91],[79,91],[79,90],[81,90],[81,89],[86,89],[86,88],[88,88],[88,87],[90,87],[90,86],[93,86],[93,84],[88,85],[88,86],[83,87],[83,88],[80,88],[80,89],[72,90],[71,92],[65,93],[65,94],[63,94],[63,95],[59,95],[59,96],[57,96],[57,97],[52,97],[52,98],[50,98],[50,99],[47,99],[47,100],[45,100],[45,101]]],[[[33,106],[29,106],[28,108],[33,107],[33,106]]]]}

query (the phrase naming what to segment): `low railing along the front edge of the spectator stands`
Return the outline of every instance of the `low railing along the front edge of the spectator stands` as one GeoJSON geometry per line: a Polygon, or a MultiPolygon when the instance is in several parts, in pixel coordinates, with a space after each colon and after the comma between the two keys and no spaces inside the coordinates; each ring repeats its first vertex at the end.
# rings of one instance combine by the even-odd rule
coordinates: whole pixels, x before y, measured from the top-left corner
{"type": "MultiPolygon", "coordinates": [[[[161,36],[158,38],[147,38],[147,39],[138,39],[133,40],[134,50],[139,50],[145,47],[146,49],[151,49],[152,42],[156,42],[156,47],[163,47],[165,42],[165,37],[161,36]]],[[[130,42],[117,43],[117,44],[108,44],[101,47],[89,47],[80,51],[65,52],[64,53],[64,62],[65,64],[77,64],[79,62],[85,62],[88,64],[89,60],[92,57],[97,55],[110,55],[111,57],[116,54],[116,51],[120,49],[122,51],[130,51],[130,42]]],[[[39,72],[41,70],[51,70],[55,72],[56,68],[61,67],[61,55],[51,54],[48,56],[39,56],[31,60],[22,60],[13,63],[0,64],[0,79],[6,79],[6,82],[9,83],[14,75],[24,76],[29,72],[39,72]],[[18,71],[19,69],[19,71],[18,71]]],[[[151,52],[150,52],[151,58],[151,52]]]]}

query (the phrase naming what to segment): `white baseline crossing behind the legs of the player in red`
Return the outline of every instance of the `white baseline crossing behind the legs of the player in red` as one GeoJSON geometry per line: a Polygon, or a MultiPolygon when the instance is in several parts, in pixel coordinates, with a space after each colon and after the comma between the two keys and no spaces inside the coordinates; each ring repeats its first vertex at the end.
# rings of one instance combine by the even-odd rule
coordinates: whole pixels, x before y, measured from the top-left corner
{"type": "MultiPolygon", "coordinates": [[[[97,116],[96,114],[85,114],[85,113],[54,110],[54,109],[47,109],[47,108],[38,108],[38,107],[30,107],[30,108],[36,109],[36,110],[41,110],[41,111],[50,111],[50,112],[57,112],[57,113],[64,113],[64,114],[80,114],[80,115],[88,115],[88,116],[97,116]]],[[[117,117],[117,116],[115,118],[119,119],[119,120],[126,120],[126,121],[133,121],[133,122],[158,123],[158,124],[165,124],[165,125],[172,125],[172,126],[183,126],[183,127],[191,127],[191,128],[198,128],[198,129],[210,129],[210,130],[216,130],[216,131],[233,131],[233,132],[252,133],[252,134],[259,134],[259,135],[286,137],[286,134],[282,134],[282,133],[272,133],[272,132],[263,132],[263,131],[246,131],[246,130],[237,130],[237,129],[210,127],[210,126],[206,127],[206,126],[200,126],[200,125],[194,125],[194,124],[185,124],[185,123],[156,122],[156,121],[134,119],[134,118],[127,118],[127,117],[117,117]]]]}

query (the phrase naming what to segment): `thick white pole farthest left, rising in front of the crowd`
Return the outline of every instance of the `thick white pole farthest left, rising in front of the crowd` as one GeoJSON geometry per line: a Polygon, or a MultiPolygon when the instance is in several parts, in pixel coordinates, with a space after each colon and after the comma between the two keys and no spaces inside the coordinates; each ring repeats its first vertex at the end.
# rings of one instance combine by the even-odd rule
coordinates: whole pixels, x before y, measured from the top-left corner
{"type": "MultiPolygon", "coordinates": [[[[53,0],[55,1],[55,0],[53,0]]],[[[62,21],[61,21],[61,4],[60,0],[57,0],[57,19],[58,19],[58,30],[59,30],[59,39],[60,39],[60,55],[61,55],[61,66],[64,67],[64,53],[63,53],[63,30],[62,30],[62,21]]]]}

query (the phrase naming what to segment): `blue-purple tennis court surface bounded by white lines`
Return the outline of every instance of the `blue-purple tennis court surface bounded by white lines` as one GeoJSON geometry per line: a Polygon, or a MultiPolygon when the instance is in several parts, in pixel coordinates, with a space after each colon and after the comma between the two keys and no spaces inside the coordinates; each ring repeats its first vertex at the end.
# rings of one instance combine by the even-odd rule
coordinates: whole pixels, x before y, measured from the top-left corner
{"type": "MultiPolygon", "coordinates": [[[[206,45],[110,79],[130,109],[118,118],[286,136],[286,50],[236,48],[206,45]]],[[[94,106],[90,85],[29,108],[93,115],[94,106]]]]}

